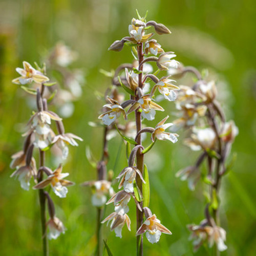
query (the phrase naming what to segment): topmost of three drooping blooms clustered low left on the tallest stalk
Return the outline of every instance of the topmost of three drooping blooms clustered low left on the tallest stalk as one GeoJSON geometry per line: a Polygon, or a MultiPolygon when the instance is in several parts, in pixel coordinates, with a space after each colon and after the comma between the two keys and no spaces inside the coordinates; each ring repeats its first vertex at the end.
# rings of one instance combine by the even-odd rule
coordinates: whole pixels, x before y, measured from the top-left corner
{"type": "Polygon", "coordinates": [[[126,191],[127,193],[133,193],[133,183],[136,179],[136,175],[139,175],[142,182],[145,183],[143,176],[138,168],[136,168],[135,166],[125,167],[122,172],[117,176],[117,179],[119,179],[119,181],[121,180],[118,188],[121,188],[123,186],[124,191],[126,191]]]}

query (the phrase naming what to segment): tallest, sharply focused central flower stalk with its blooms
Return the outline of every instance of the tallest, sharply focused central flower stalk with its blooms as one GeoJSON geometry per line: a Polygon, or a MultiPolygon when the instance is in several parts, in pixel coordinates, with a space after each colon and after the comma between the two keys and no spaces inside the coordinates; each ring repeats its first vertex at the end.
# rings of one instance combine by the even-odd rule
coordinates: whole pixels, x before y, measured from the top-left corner
{"type": "MultiPolygon", "coordinates": [[[[139,15],[138,15],[139,16],[139,15]]],[[[133,138],[127,137],[122,131],[116,129],[122,138],[126,141],[126,150],[128,157],[128,166],[123,168],[118,175],[119,189],[106,204],[114,203],[115,211],[106,217],[103,222],[112,220],[111,230],[115,230],[117,237],[122,237],[121,230],[126,224],[127,228],[131,230],[131,220],[127,215],[129,206],[127,205],[131,198],[134,199],[136,209],[137,222],[137,255],[143,255],[143,233],[151,243],[159,241],[161,233],[172,234],[165,228],[156,215],[153,215],[148,208],[150,198],[150,185],[148,179],[147,167],[144,163],[144,155],[151,150],[156,140],[169,140],[175,143],[177,141],[177,134],[168,133],[165,131],[172,123],[166,123],[168,116],[160,121],[155,128],[144,127],[143,120],[154,120],[157,111],[164,111],[164,109],[154,101],[154,96],[157,89],[161,96],[168,101],[176,99],[176,90],[179,87],[173,84],[175,81],[169,79],[170,76],[157,78],[156,73],[160,70],[168,70],[170,67],[176,68],[178,62],[173,58],[176,56],[173,52],[164,52],[161,45],[155,39],[152,39],[153,33],[147,33],[147,30],[154,27],[158,34],[169,34],[170,31],[163,25],[154,21],[146,22],[145,17],[139,19],[132,19],[132,24],[129,26],[130,36],[124,37],[121,40],[116,40],[109,48],[109,50],[121,51],[124,44],[131,47],[135,61],[133,65],[123,64],[114,74],[113,84],[120,86],[125,92],[129,94],[129,99],[118,101],[111,97],[108,98],[109,104],[105,105],[107,108],[103,114],[99,116],[105,125],[113,125],[116,119],[122,114],[124,119],[127,115],[135,113],[136,135],[133,138]],[[156,62],[158,71],[153,74],[153,68],[148,69],[147,62],[156,62]],[[123,70],[125,75],[123,75],[123,70]],[[130,70],[130,71],[129,71],[130,70]],[[151,92],[150,83],[153,83],[151,92]],[[127,107],[127,111],[125,110],[127,107]],[[147,147],[142,145],[142,135],[144,133],[152,134],[152,143],[147,147]],[[131,144],[134,145],[131,150],[131,144]],[[145,217],[145,220],[144,220],[145,217]],[[144,220],[144,221],[143,221],[144,220]]]]}

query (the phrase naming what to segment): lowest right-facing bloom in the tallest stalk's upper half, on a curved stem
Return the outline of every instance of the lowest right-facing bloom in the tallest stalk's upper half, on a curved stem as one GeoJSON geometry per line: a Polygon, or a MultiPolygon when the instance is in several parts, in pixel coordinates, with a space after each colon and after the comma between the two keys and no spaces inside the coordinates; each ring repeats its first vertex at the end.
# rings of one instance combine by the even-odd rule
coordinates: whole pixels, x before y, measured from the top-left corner
{"type": "Polygon", "coordinates": [[[160,121],[156,127],[154,132],[152,133],[151,139],[154,142],[155,139],[157,138],[158,140],[169,140],[172,141],[173,143],[176,143],[178,141],[177,137],[179,136],[178,134],[175,133],[167,133],[165,130],[172,126],[173,123],[165,123],[169,116],[166,116],[162,121],[160,121]]]}

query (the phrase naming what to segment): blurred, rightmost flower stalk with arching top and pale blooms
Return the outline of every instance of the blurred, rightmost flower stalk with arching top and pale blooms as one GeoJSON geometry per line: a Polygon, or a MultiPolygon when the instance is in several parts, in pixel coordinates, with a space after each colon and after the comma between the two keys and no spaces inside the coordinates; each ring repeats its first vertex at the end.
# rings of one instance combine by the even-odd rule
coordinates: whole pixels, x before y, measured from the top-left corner
{"type": "MultiPolygon", "coordinates": [[[[214,254],[227,249],[226,231],[220,226],[220,188],[223,177],[230,170],[228,156],[238,128],[234,122],[226,121],[225,114],[217,100],[217,87],[214,81],[206,81],[200,72],[193,67],[180,67],[176,74],[181,77],[187,72],[194,73],[198,81],[192,88],[181,87],[176,107],[180,118],[174,121],[173,131],[181,127],[188,129],[189,136],[184,143],[193,151],[200,151],[195,165],[188,166],[177,173],[177,177],[188,181],[191,190],[202,178],[206,184],[205,193],[208,202],[205,206],[205,219],[199,225],[189,225],[197,250],[204,242],[214,246],[214,254]],[[202,164],[206,162],[207,173],[202,164]]],[[[204,193],[204,194],[205,194],[204,193]]]]}

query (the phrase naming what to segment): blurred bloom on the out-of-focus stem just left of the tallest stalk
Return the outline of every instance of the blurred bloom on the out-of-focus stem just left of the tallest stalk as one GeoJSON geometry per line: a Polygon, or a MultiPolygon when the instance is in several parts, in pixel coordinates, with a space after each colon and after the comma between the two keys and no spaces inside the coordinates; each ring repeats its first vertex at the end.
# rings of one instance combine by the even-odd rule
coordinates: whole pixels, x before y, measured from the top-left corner
{"type": "Polygon", "coordinates": [[[113,196],[114,190],[110,181],[97,180],[87,181],[82,184],[83,186],[90,186],[92,188],[92,205],[101,207],[106,202],[106,195],[113,196]]]}

